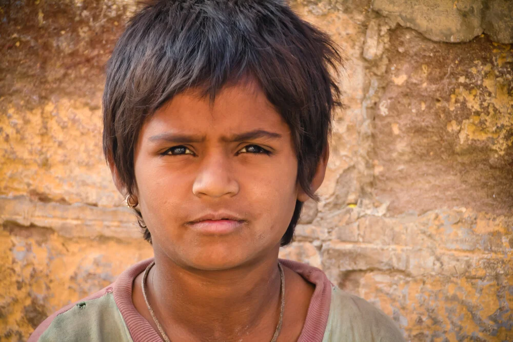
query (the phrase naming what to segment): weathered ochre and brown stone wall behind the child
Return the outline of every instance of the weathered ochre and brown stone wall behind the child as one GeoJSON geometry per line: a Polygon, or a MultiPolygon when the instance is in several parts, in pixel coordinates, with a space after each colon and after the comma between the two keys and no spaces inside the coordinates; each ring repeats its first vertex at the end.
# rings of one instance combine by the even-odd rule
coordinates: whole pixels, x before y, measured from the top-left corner
{"type": "MultiPolygon", "coordinates": [[[[513,340],[513,2],[295,0],[341,46],[319,204],[283,257],[412,341],[513,340]]],[[[0,2],[0,340],[151,255],[101,151],[123,0],[0,2]]]]}

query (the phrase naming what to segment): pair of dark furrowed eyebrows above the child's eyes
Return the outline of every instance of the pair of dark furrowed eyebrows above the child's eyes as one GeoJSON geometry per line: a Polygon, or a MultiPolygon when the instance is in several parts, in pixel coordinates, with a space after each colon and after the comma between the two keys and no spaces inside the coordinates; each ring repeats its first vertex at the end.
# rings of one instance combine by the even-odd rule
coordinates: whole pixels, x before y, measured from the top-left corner
{"type": "MultiPolygon", "coordinates": [[[[269,132],[263,129],[257,129],[249,132],[233,134],[229,137],[223,136],[223,142],[242,142],[244,140],[252,140],[258,138],[279,139],[282,135],[280,133],[269,132]]],[[[169,142],[169,143],[202,143],[206,139],[205,136],[176,134],[176,133],[162,133],[153,135],[148,138],[150,142],[169,142]]]]}

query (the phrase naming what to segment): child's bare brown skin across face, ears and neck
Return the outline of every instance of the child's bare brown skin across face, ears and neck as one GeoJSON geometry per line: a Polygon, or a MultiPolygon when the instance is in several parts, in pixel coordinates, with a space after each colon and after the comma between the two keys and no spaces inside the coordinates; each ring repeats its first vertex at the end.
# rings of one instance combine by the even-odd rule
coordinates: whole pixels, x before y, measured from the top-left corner
{"type": "MultiPolygon", "coordinates": [[[[328,150],[313,190],[324,179],[327,160],[328,150]]],[[[262,90],[241,82],[223,88],[213,103],[195,89],[174,96],[144,123],[134,166],[134,198],[155,254],[146,288],[168,337],[270,340],[279,320],[280,240],[296,199],[308,196],[297,182],[290,129],[262,90]],[[240,136],[254,131],[272,134],[240,136]],[[242,139],[234,140],[238,135],[242,139]],[[190,224],[219,211],[240,219],[236,229],[218,234],[190,224]]],[[[284,271],[286,305],[278,340],[291,341],[301,333],[314,287],[284,271]]],[[[154,326],[141,278],[134,280],[133,303],[154,326]]]]}

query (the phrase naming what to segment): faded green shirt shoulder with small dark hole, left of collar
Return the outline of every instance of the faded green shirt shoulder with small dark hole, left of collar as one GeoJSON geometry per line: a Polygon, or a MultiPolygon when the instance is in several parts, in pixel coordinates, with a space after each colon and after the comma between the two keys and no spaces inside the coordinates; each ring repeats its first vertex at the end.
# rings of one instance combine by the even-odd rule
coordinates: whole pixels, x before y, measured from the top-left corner
{"type": "Polygon", "coordinates": [[[29,338],[29,342],[96,340],[131,341],[112,286],[55,312],[29,338]]]}

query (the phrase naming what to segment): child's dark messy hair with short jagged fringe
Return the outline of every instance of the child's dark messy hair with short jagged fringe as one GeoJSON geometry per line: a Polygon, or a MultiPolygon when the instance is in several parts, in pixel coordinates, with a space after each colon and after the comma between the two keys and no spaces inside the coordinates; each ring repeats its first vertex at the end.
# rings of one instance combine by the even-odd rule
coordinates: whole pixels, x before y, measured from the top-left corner
{"type": "MultiPolygon", "coordinates": [[[[328,148],[342,66],[336,45],[281,0],[160,0],[128,23],[107,66],[103,149],[127,194],[136,189],[134,147],[144,120],[176,94],[198,88],[213,101],[228,83],[251,78],[290,127],[298,182],[310,183],[328,148]]],[[[281,245],[291,242],[296,202],[281,245]]],[[[136,210],[144,238],[151,235],[136,210]]]]}

